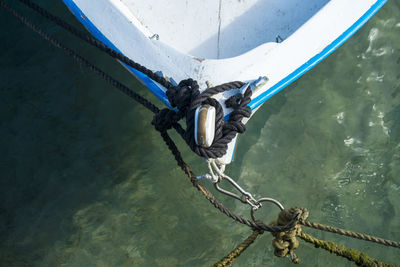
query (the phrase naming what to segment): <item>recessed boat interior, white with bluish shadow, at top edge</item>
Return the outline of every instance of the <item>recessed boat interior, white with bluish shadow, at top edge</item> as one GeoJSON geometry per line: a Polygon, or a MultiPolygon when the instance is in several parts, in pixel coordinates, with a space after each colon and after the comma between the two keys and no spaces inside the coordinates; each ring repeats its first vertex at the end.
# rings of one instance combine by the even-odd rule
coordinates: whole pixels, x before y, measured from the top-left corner
{"type": "Polygon", "coordinates": [[[329,0],[121,0],[159,40],[198,58],[241,55],[282,42],[329,0]]]}

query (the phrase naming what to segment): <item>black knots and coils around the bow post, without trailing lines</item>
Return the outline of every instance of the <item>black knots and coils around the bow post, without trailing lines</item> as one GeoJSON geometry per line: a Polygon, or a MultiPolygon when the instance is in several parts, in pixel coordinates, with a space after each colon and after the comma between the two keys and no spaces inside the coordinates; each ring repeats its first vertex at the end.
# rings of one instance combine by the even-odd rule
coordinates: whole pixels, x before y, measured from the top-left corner
{"type": "MultiPolygon", "coordinates": [[[[248,104],[251,101],[252,91],[250,87],[246,89],[235,101],[235,105],[231,102],[231,98],[226,101],[226,106],[232,108],[229,119],[224,121],[224,112],[221,104],[213,96],[243,87],[243,82],[229,82],[208,88],[200,93],[199,85],[193,79],[183,80],[178,86],[171,87],[166,94],[171,106],[178,109],[178,112],[171,109],[162,109],[155,114],[152,124],[158,131],[171,129],[172,126],[180,119],[186,118],[186,130],[183,135],[189,147],[199,156],[204,158],[219,158],[225,155],[228,144],[235,138],[236,134],[243,133],[246,130],[242,119],[249,118],[251,109],[248,104]],[[214,141],[210,147],[202,147],[196,144],[194,138],[194,116],[196,109],[201,105],[209,104],[216,109],[215,118],[215,135],[214,141]]],[[[237,97],[235,95],[235,97],[237,97]]]]}

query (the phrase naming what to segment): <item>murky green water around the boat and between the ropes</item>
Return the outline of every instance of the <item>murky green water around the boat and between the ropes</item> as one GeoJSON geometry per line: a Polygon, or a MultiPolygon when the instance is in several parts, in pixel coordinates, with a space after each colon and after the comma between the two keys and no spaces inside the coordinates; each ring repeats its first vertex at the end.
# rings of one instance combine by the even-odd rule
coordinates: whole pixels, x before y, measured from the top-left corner
{"type": "MultiPolygon", "coordinates": [[[[79,26],[59,1],[38,2],[79,26]]],[[[114,60],[19,9],[157,102],[114,60]]],[[[311,221],[400,241],[399,14],[389,1],[257,111],[228,173],[257,197],[308,208],[311,221]]],[[[0,266],[209,266],[250,234],[191,186],[149,112],[3,10],[0,36],[0,266]]],[[[266,205],[257,215],[276,214],[266,205]]],[[[394,248],[304,230],[400,262],[394,248]]],[[[292,266],[271,240],[264,234],[235,266],[292,266]]],[[[297,255],[301,266],[352,266],[304,242],[297,255]]]]}

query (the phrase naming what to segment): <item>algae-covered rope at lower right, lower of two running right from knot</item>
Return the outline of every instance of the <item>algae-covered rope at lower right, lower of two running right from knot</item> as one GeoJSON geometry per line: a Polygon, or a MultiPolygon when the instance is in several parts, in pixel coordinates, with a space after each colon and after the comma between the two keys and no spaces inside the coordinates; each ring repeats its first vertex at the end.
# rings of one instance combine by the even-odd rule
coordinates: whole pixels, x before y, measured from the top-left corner
{"type": "Polygon", "coordinates": [[[363,267],[396,267],[393,264],[387,264],[380,262],[376,259],[373,259],[369,257],[368,255],[355,250],[355,249],[350,249],[346,248],[342,245],[338,245],[335,242],[328,242],[324,240],[317,239],[309,234],[300,232],[298,234],[298,237],[303,239],[306,242],[309,242],[313,244],[316,248],[323,248],[330,253],[334,253],[337,256],[344,257],[348,259],[349,261],[353,261],[355,264],[358,266],[363,266],[363,267]]]}

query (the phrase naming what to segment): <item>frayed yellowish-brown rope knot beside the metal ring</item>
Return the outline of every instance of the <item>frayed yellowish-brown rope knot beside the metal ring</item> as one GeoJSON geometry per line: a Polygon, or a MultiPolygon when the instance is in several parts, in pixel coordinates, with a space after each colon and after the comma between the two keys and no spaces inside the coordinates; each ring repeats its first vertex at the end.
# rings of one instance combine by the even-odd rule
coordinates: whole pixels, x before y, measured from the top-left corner
{"type": "MultiPolygon", "coordinates": [[[[284,226],[293,219],[297,220],[297,222],[302,222],[305,221],[307,217],[307,209],[294,207],[290,210],[282,210],[279,213],[278,219],[276,221],[273,221],[271,225],[284,226]]],[[[275,239],[272,240],[272,246],[275,248],[275,256],[285,257],[289,254],[293,263],[299,263],[300,259],[297,258],[294,251],[299,247],[299,241],[296,239],[296,236],[300,233],[300,224],[296,224],[291,230],[288,231],[272,233],[272,235],[275,237],[275,239]]]]}

